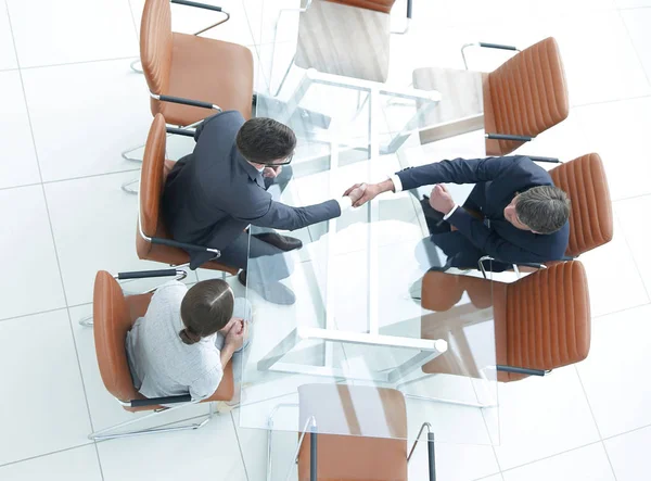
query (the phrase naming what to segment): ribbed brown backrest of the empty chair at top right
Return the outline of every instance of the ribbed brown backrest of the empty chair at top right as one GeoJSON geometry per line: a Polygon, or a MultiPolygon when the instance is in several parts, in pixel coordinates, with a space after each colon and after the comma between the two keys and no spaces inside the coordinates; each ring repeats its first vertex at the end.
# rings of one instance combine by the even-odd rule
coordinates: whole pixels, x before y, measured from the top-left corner
{"type": "MultiPolygon", "coordinates": [[[[565,72],[552,37],[512,56],[487,76],[484,87],[487,134],[537,136],[564,121],[569,113],[565,72]]],[[[487,140],[486,152],[506,155],[521,144],[487,140]]]]}

